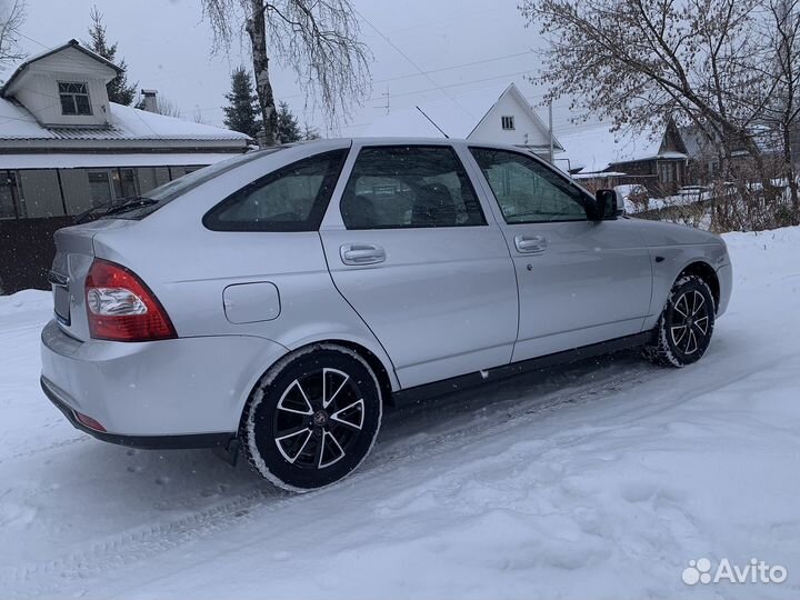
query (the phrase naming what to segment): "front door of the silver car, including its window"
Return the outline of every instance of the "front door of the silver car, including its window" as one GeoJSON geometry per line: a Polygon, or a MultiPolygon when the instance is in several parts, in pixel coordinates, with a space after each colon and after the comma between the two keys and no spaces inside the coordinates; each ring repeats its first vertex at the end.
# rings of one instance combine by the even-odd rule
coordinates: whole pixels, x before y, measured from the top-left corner
{"type": "Polygon", "coordinates": [[[471,148],[513,257],[520,323],[513,360],[641,331],[652,270],[627,219],[592,221],[593,199],[530,154],[471,148]]]}

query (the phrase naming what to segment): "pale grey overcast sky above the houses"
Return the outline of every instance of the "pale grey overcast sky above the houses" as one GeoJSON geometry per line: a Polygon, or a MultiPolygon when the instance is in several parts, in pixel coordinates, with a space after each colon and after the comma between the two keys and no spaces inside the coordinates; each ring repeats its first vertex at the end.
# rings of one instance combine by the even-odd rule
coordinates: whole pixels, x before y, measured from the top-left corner
{"type": "MultiPolygon", "coordinates": [[[[354,0],[371,23],[361,21],[362,41],[374,56],[373,86],[371,99],[354,110],[348,124],[342,123],[340,133],[358,134],[360,126],[384,112],[387,91],[390,109],[397,110],[446,93],[457,96],[513,81],[536,107],[541,90],[526,74],[537,72],[539,59],[532,49],[540,40],[536,27],[524,28],[517,2],[354,0]],[[429,73],[421,74],[418,68],[429,73]]],[[[104,16],[109,40],[119,42],[118,59],[126,59],[129,80],[138,81],[139,89],[157,89],[184,118],[199,112],[206,122],[222,123],[230,71],[240,63],[250,64],[248,40],[227,54],[212,54],[211,30],[202,20],[200,0],[28,0],[24,50],[36,53],[70,38],[87,40],[93,4],[104,16]]],[[[271,67],[276,98],[288,101],[301,121],[321,126],[323,120],[307,107],[293,73],[271,67]]],[[[0,79],[9,74],[0,73],[0,79]]],[[[559,104],[554,109],[557,134],[569,117],[567,102],[559,104]]],[[[547,109],[537,108],[546,120],[547,109]]]]}

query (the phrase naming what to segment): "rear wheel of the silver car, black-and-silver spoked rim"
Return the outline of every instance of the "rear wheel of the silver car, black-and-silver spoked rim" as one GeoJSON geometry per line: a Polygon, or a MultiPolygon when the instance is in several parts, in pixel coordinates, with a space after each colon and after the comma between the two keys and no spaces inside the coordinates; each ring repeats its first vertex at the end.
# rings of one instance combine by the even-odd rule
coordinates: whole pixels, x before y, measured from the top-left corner
{"type": "Polygon", "coordinates": [[[334,483],[367,458],[380,429],[381,388],[358,353],[319,343],[288,354],[256,384],[239,437],[251,467],[306,492],[334,483]]]}

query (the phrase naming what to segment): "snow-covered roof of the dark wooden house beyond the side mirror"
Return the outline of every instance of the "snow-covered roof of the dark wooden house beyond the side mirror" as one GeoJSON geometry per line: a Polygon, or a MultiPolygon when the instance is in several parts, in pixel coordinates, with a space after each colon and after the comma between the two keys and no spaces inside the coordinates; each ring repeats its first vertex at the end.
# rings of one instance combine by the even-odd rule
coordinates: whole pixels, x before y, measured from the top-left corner
{"type": "Polygon", "coordinates": [[[559,167],[580,169],[582,173],[606,171],[620,162],[687,158],[682,152],[662,150],[662,137],[630,129],[611,131],[609,123],[577,126],[572,131],[559,133],[559,140],[564,148],[560,159],[569,159],[569,162],[560,160],[559,167]]]}

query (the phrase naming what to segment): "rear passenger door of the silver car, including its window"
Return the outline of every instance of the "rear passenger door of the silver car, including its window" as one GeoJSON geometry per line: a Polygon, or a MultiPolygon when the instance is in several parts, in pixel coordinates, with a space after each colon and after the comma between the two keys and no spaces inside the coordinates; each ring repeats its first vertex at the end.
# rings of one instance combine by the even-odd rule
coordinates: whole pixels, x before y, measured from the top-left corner
{"type": "Polygon", "coordinates": [[[400,384],[507,364],[517,339],[514,269],[457,148],[353,150],[320,236],[336,287],[400,384]]]}

